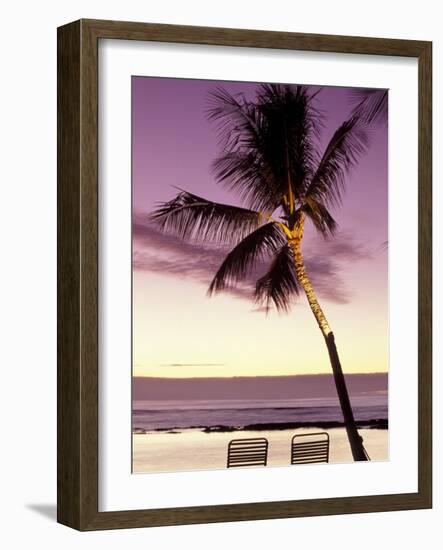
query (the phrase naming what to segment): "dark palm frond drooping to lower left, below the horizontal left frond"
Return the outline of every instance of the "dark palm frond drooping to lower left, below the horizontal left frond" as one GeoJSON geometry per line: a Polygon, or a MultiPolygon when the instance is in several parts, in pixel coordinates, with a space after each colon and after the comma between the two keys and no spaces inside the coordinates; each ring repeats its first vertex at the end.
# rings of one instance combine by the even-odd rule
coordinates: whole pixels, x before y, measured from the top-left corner
{"type": "Polygon", "coordinates": [[[209,286],[208,294],[233,286],[243,279],[258,261],[272,255],[285,242],[285,236],[274,222],[253,231],[226,256],[209,286]]]}

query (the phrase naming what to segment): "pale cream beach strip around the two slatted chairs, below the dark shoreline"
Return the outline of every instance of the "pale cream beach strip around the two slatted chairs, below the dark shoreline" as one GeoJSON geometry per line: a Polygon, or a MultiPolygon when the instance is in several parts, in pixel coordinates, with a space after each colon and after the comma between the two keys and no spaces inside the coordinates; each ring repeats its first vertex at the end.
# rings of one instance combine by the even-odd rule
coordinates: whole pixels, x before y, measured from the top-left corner
{"type": "MultiPolygon", "coordinates": [[[[269,441],[268,466],[290,463],[290,441],[298,433],[321,431],[318,428],[296,430],[238,431],[205,433],[188,429],[179,433],[151,432],[133,434],[133,472],[173,472],[226,468],[227,447],[231,439],[266,437],[269,441]]],[[[330,437],[330,462],[352,462],[344,428],[325,430],[330,437]]],[[[389,431],[361,429],[371,460],[389,459],[389,431]]],[[[300,467],[300,466],[298,466],[300,467]]]]}

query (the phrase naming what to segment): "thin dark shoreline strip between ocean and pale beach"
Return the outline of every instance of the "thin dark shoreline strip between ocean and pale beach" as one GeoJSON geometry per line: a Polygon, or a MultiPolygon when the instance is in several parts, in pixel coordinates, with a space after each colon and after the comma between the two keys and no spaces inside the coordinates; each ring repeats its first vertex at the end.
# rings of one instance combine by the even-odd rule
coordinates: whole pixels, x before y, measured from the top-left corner
{"type": "MultiPolygon", "coordinates": [[[[388,420],[385,418],[373,418],[371,420],[357,421],[357,428],[359,429],[372,429],[372,430],[387,430],[388,420]]],[[[184,430],[200,430],[204,433],[226,433],[226,432],[244,432],[244,431],[273,431],[273,430],[297,430],[300,428],[318,428],[323,430],[329,430],[332,428],[344,428],[343,422],[338,421],[324,421],[324,422],[274,422],[274,423],[262,423],[262,424],[247,424],[245,426],[187,426],[186,428],[173,427],[173,428],[155,428],[152,430],[145,430],[143,428],[135,428],[134,434],[146,434],[146,433],[182,433],[184,430]]]]}

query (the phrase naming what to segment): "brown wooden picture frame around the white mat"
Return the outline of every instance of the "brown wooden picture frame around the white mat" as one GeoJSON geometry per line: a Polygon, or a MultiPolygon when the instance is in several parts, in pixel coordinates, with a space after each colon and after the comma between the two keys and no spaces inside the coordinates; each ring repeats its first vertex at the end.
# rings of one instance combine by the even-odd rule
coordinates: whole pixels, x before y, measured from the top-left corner
{"type": "Polygon", "coordinates": [[[80,20],[58,29],[58,521],[82,531],[431,507],[432,108],[430,42],[80,20]],[[160,41],[405,56],[419,75],[416,493],[98,511],[98,42],[160,41]]]}

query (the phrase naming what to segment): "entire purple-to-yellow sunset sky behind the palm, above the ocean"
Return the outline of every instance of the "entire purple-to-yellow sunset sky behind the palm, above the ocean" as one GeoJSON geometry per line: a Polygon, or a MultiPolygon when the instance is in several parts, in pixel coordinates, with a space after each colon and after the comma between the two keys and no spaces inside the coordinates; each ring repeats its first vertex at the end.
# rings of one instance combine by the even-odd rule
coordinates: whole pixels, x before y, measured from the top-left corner
{"type": "MultiPolygon", "coordinates": [[[[243,285],[208,298],[225,250],[160,233],[147,221],[180,187],[241,205],[210,171],[218,149],[208,92],[253,98],[257,84],[133,77],[133,373],[211,377],[329,373],[323,337],[301,294],[288,314],[266,315],[243,285]]],[[[322,147],[350,113],[349,89],[325,87],[322,147]]],[[[345,373],[388,370],[387,125],[347,177],[339,223],[325,241],[306,230],[303,251],[335,333],[345,373]]]]}

